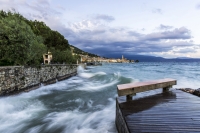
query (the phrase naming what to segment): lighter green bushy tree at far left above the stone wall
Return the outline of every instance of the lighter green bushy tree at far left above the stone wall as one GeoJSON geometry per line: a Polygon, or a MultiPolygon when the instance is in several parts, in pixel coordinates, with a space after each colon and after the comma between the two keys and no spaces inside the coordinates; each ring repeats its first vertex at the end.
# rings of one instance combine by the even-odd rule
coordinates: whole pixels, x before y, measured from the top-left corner
{"type": "Polygon", "coordinates": [[[13,65],[38,62],[38,54],[42,55],[45,46],[42,38],[33,33],[21,15],[1,11],[0,27],[0,60],[12,62],[13,65]]]}

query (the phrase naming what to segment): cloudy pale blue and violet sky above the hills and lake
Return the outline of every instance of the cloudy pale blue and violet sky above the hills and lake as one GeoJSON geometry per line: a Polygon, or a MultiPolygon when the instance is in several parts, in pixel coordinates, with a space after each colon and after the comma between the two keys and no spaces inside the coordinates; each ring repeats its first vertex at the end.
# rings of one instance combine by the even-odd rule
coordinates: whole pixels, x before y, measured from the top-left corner
{"type": "Polygon", "coordinates": [[[0,0],[99,56],[200,58],[200,0],[0,0]]]}

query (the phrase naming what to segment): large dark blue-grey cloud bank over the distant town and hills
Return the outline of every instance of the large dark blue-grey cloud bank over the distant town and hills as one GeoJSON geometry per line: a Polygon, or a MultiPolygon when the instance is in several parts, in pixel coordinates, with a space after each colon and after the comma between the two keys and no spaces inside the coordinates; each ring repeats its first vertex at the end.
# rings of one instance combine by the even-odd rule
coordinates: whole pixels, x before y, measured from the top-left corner
{"type": "MultiPolygon", "coordinates": [[[[100,56],[109,55],[109,57],[117,54],[121,56],[122,54],[135,55],[140,53],[167,52],[173,50],[173,47],[184,48],[193,46],[193,42],[188,41],[188,39],[192,38],[189,29],[185,27],[172,29],[171,26],[166,25],[160,25],[159,27],[164,28],[165,31],[142,34],[125,28],[107,27],[103,29],[88,28],[87,30],[83,29],[79,32],[74,32],[69,28],[67,30],[70,31],[70,34],[67,35],[66,32],[65,36],[69,38],[69,42],[72,45],[87,52],[100,56]],[[118,33],[121,33],[120,36],[118,36],[118,33]],[[110,39],[112,35],[116,35],[116,37],[110,39]]],[[[183,50],[179,51],[180,53],[184,52],[183,50]]]]}

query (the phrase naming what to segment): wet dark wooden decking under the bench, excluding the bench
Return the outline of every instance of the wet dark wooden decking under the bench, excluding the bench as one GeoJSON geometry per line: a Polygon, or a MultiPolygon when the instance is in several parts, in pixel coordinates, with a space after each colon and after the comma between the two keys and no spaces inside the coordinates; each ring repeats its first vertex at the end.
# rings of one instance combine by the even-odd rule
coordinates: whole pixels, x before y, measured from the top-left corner
{"type": "MultiPolygon", "coordinates": [[[[117,126],[119,133],[128,132],[200,132],[200,99],[180,90],[126,101],[118,97],[116,104],[124,122],[117,126]]],[[[118,120],[116,119],[116,120],[118,120]]]]}

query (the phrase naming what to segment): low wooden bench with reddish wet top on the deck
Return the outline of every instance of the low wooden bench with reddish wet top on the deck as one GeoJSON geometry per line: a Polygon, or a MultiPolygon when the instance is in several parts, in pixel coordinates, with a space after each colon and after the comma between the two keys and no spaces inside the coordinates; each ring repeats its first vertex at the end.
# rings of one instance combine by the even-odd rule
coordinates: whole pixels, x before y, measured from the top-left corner
{"type": "Polygon", "coordinates": [[[118,96],[126,96],[126,100],[132,100],[132,96],[138,92],[149,91],[153,89],[163,88],[163,91],[168,91],[173,85],[176,85],[175,79],[160,79],[146,82],[136,82],[129,84],[117,85],[118,96]]]}

